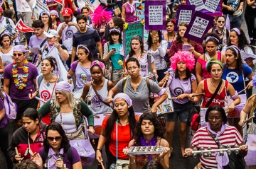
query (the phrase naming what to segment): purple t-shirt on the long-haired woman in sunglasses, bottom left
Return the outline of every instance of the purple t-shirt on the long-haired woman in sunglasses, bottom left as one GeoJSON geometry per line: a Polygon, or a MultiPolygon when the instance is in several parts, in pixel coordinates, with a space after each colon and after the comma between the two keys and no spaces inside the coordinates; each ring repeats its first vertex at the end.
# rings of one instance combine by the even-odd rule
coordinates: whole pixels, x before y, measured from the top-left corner
{"type": "MultiPolygon", "coordinates": [[[[63,155],[65,156],[65,158],[63,158],[63,163],[66,164],[66,167],[69,168],[69,169],[72,169],[73,167],[73,164],[75,163],[78,163],[79,161],[81,161],[81,158],[78,154],[78,151],[73,147],[71,146],[71,150],[72,150],[72,156],[73,156],[73,163],[71,164],[70,161],[68,160],[68,154],[67,153],[63,153],[63,155]]],[[[44,148],[41,148],[38,153],[41,157],[43,157],[43,151],[44,151],[44,148]]],[[[46,161],[46,159],[44,159],[43,161],[46,161]]]]}

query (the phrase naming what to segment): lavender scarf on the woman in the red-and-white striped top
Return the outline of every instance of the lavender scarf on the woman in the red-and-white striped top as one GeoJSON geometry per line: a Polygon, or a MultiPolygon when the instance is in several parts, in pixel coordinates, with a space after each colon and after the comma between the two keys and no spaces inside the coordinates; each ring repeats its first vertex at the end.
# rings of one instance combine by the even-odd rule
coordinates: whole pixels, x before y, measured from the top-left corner
{"type": "MultiPolygon", "coordinates": [[[[227,124],[223,124],[220,132],[214,132],[212,129],[210,129],[210,124],[207,124],[207,129],[211,134],[215,134],[215,140],[218,140],[218,137],[225,132],[225,129],[227,128],[227,124]]],[[[218,163],[218,169],[223,169],[223,166],[228,165],[229,158],[228,153],[224,151],[224,156],[220,156],[220,152],[215,153],[215,158],[218,163]]]]}

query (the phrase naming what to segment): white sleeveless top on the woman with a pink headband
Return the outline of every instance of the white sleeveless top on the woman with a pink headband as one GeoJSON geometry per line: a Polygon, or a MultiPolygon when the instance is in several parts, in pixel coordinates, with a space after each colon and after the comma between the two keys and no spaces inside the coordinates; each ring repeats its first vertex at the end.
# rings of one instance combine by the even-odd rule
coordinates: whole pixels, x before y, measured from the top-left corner
{"type": "MultiPolygon", "coordinates": [[[[108,80],[105,79],[105,82],[102,86],[102,88],[97,91],[97,93],[100,95],[100,98],[104,101],[107,98],[107,83],[108,80]]],[[[107,105],[105,105],[104,103],[102,103],[102,101],[97,97],[97,95],[95,94],[95,91],[92,88],[92,84],[90,84],[90,88],[89,88],[89,92],[88,92],[91,96],[91,105],[90,105],[90,110],[92,110],[92,113],[94,115],[96,114],[102,114],[104,112],[110,112],[110,107],[108,107],[107,105]]]]}

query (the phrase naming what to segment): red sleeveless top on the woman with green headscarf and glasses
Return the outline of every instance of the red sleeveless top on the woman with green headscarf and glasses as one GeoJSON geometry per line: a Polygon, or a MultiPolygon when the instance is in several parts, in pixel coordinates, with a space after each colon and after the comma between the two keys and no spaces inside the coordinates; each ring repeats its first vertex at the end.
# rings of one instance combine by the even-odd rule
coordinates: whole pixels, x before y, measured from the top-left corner
{"type": "MultiPolygon", "coordinates": [[[[203,95],[203,104],[201,107],[206,107],[206,104],[208,103],[208,100],[210,100],[210,98],[213,96],[213,93],[210,93],[210,91],[208,90],[207,79],[203,80],[203,86],[203,93],[205,93],[205,95],[203,95]]],[[[228,88],[228,81],[225,81],[225,88],[228,88]]],[[[225,107],[225,88],[223,88],[220,93],[217,93],[212,103],[210,103],[209,107],[212,105],[220,105],[221,107],[225,107]]]]}

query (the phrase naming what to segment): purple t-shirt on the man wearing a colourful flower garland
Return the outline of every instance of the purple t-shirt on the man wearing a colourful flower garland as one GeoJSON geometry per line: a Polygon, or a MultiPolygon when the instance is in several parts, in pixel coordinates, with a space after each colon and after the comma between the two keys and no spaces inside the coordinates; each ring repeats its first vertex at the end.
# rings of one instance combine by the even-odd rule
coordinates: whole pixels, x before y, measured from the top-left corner
{"type": "MultiPolygon", "coordinates": [[[[9,64],[4,69],[4,78],[10,80],[10,87],[9,87],[9,95],[13,99],[17,100],[29,100],[28,94],[30,93],[30,90],[32,89],[33,92],[35,91],[35,87],[33,84],[33,80],[36,80],[36,76],[38,76],[38,71],[36,69],[36,66],[28,62],[28,81],[26,88],[23,88],[22,90],[19,90],[16,88],[14,84],[14,78],[12,73],[12,67],[13,64],[9,64]]],[[[22,83],[23,80],[23,69],[18,68],[18,81],[19,83],[22,83]]]]}

